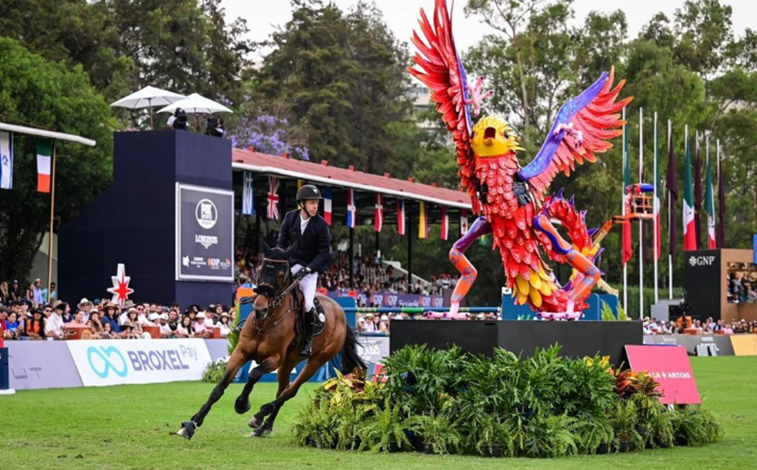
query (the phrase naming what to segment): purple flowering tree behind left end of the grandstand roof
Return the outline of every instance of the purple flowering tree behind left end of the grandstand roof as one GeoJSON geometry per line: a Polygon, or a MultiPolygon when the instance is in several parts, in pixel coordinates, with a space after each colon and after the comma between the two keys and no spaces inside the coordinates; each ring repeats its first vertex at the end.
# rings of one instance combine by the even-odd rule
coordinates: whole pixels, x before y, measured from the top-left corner
{"type": "MultiPolygon", "coordinates": [[[[245,96],[245,101],[250,103],[249,95],[245,96]]],[[[286,152],[291,157],[310,160],[308,148],[298,145],[302,139],[297,138],[298,132],[290,126],[287,118],[259,114],[251,105],[242,105],[235,118],[236,122],[228,130],[234,147],[253,147],[257,152],[270,155],[286,152]]]]}

